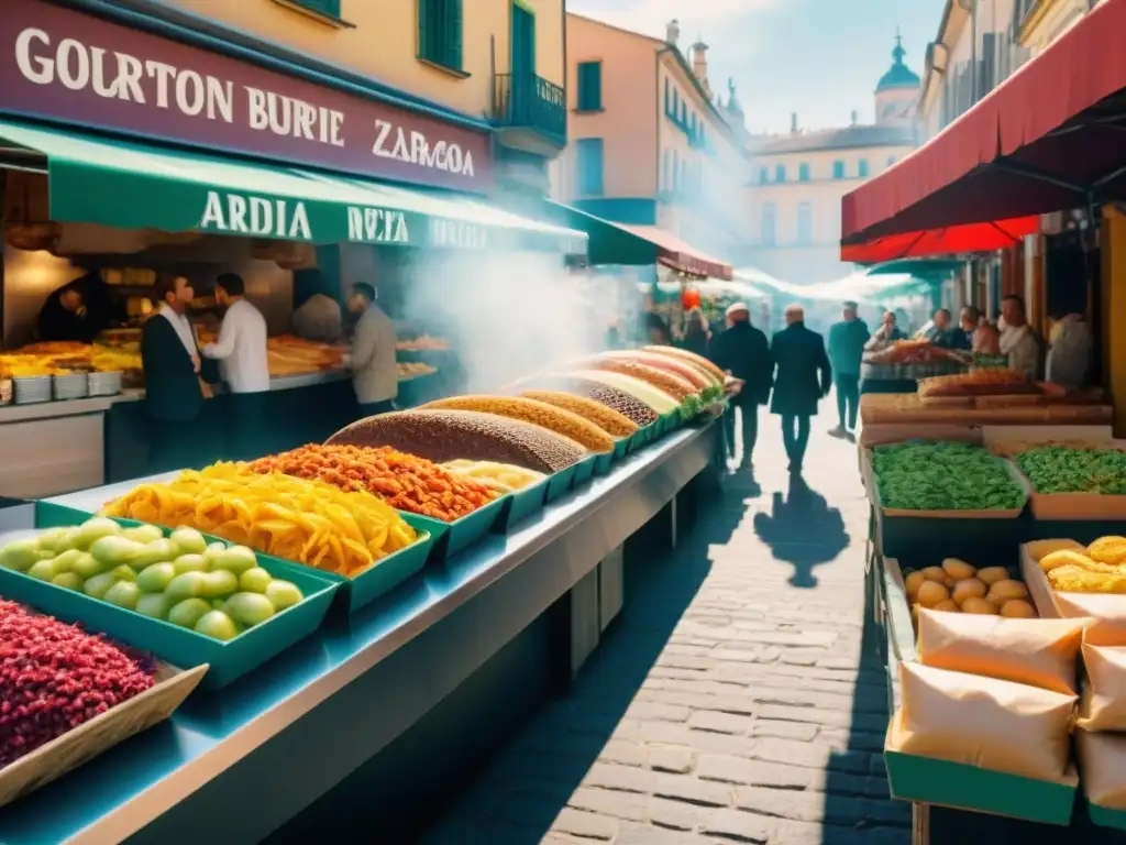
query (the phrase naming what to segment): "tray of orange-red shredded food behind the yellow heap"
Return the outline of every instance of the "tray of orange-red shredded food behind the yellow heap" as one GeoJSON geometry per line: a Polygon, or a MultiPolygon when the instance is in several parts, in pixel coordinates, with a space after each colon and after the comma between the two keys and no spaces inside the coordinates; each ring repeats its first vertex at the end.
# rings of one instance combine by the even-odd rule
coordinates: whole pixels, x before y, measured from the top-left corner
{"type": "Polygon", "coordinates": [[[508,498],[434,461],[387,446],[309,445],[259,459],[251,466],[381,497],[415,530],[429,532],[434,545],[428,559],[436,562],[492,531],[508,498]]]}

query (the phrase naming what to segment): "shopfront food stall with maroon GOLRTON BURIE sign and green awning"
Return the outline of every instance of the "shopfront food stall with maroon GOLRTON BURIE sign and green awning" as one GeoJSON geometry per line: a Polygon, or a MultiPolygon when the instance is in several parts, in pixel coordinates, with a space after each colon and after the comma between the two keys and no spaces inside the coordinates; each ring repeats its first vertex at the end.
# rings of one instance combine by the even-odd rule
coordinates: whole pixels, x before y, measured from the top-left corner
{"type": "MultiPolygon", "coordinates": [[[[562,274],[566,256],[586,251],[581,232],[484,202],[493,185],[483,122],[445,123],[45,0],[8,3],[0,43],[21,57],[0,91],[0,493],[144,472],[152,425],[138,341],[161,278],[190,282],[188,317],[202,340],[217,326],[215,278],[245,282],[270,335],[267,452],[323,439],[356,416],[345,345],[294,336],[302,272],[323,274],[322,293],[338,305],[368,282],[393,318],[441,322],[443,287],[562,274]],[[175,63],[187,81],[169,98],[148,74],[129,98],[106,99],[55,57],[78,51],[88,66],[105,50],[122,62],[175,63]],[[289,109],[291,124],[297,109],[304,128],[259,125],[270,103],[289,109]],[[48,310],[63,318],[55,323],[92,323],[96,302],[96,330],[44,337],[48,310]]],[[[493,311],[492,323],[474,315],[480,333],[503,324],[493,311]]],[[[418,348],[429,335],[400,339],[415,347],[401,350],[406,401],[435,398],[437,381],[421,380],[440,365],[418,348]]],[[[217,390],[198,419],[213,455],[226,401],[217,390]]]]}

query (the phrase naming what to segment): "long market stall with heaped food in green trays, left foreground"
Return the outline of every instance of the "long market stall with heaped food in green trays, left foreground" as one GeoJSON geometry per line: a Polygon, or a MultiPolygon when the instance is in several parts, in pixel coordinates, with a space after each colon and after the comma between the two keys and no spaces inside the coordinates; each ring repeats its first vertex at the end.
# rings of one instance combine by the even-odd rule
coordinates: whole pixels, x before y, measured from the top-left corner
{"type": "Polygon", "coordinates": [[[9,502],[0,596],[195,674],[78,755],[48,720],[32,754],[50,776],[0,791],[3,840],[408,840],[428,819],[403,808],[597,646],[626,540],[663,513],[674,542],[723,390],[682,350],[604,354],[250,464],[9,502]]]}

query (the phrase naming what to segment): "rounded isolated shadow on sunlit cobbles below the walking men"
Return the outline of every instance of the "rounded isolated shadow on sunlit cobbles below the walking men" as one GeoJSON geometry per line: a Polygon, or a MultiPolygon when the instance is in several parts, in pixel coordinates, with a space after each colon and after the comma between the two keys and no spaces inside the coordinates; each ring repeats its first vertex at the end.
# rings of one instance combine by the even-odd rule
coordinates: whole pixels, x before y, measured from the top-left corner
{"type": "Polygon", "coordinates": [[[789,582],[815,587],[813,568],[828,563],[848,546],[849,535],[838,508],[811,488],[799,474],[790,474],[785,497],[775,492],[770,513],[754,515],[754,533],[776,560],[794,566],[789,582]]]}

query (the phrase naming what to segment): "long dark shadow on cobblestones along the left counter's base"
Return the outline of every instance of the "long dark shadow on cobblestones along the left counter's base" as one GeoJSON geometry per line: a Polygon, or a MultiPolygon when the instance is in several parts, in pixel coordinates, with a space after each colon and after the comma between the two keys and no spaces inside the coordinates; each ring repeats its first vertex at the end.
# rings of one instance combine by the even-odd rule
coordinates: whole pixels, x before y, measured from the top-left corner
{"type": "Polygon", "coordinates": [[[441,808],[445,819],[419,842],[536,845],[545,837],[590,767],[606,757],[610,736],[707,578],[709,546],[727,542],[743,514],[709,496],[676,549],[654,552],[645,532],[631,539],[626,604],[568,697],[540,711],[452,807],[441,808]]]}

